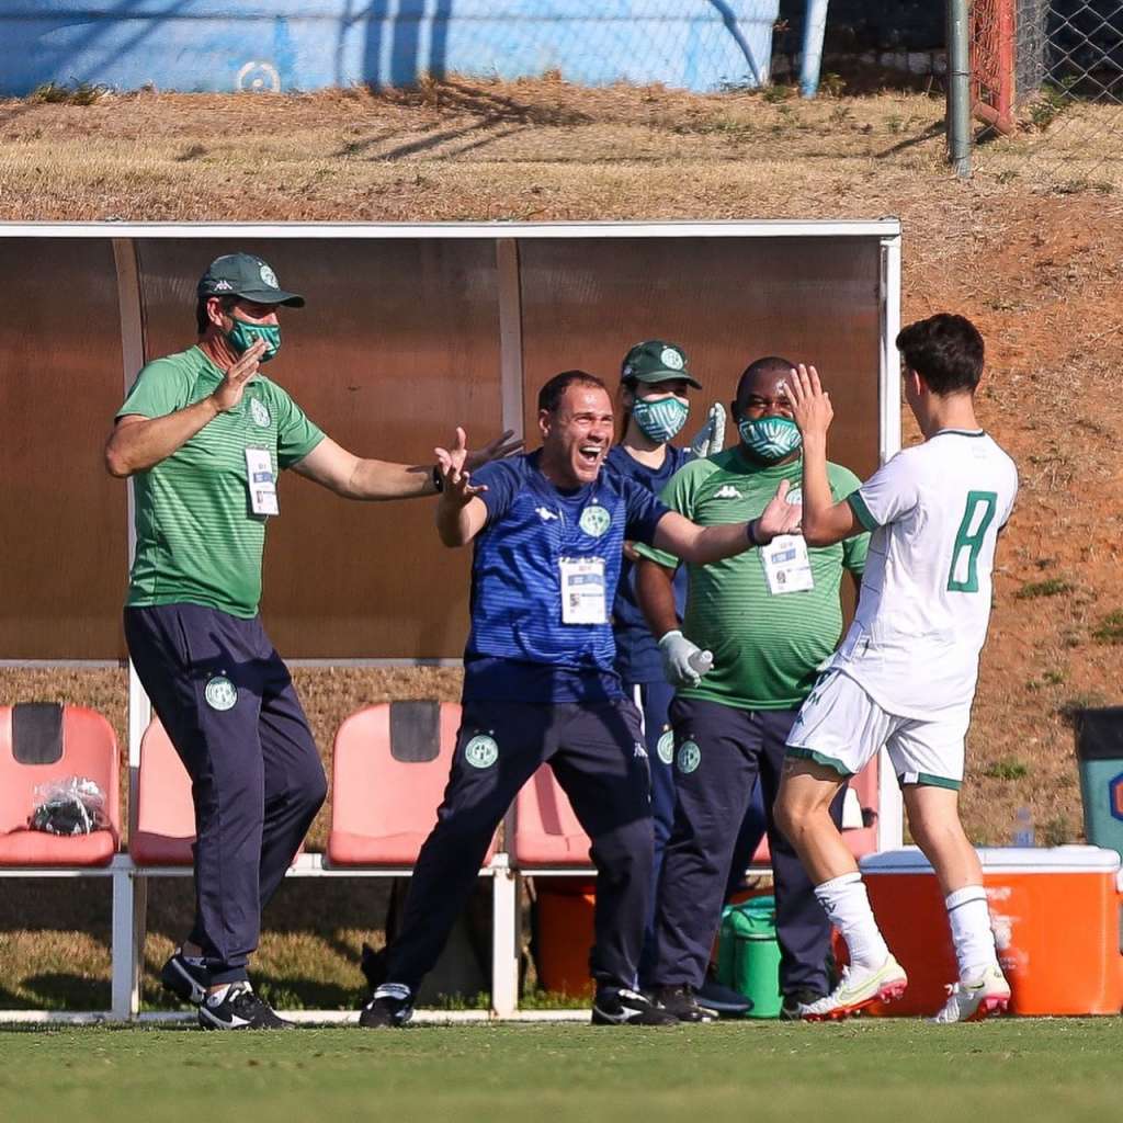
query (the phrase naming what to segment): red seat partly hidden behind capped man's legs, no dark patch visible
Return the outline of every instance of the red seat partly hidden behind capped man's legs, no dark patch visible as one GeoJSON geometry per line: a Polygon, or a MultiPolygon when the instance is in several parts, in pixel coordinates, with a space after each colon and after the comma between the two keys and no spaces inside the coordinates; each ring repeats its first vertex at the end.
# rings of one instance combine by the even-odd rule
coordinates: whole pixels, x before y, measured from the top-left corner
{"type": "Polygon", "coordinates": [[[136,825],[129,853],[138,866],[190,866],[195,840],[191,777],[158,718],[140,740],[136,825]]]}

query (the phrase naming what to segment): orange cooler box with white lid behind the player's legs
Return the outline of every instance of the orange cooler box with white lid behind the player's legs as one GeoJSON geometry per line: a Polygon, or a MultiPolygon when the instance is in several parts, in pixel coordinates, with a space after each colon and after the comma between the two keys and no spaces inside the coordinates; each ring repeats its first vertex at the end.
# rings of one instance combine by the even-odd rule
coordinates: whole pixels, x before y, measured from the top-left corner
{"type": "MultiPolygon", "coordinates": [[[[1013,1014],[1119,1014],[1120,856],[1093,846],[979,850],[1013,1014]]],[[[959,971],[943,898],[916,847],[861,860],[877,922],[909,973],[886,1014],[931,1016],[959,971]]]]}

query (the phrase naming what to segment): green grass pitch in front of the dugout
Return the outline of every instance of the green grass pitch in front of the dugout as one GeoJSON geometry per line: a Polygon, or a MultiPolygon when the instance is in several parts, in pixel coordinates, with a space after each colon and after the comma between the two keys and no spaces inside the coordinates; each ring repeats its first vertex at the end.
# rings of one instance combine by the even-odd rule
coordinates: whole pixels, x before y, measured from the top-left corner
{"type": "Polygon", "coordinates": [[[0,1119],[1096,1120],[1116,1020],[0,1034],[0,1119]]]}

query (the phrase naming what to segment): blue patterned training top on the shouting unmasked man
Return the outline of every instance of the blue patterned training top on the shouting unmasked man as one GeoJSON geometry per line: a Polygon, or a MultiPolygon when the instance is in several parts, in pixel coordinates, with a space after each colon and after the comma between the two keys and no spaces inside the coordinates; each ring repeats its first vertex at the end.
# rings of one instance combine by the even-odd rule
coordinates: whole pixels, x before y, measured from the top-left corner
{"type": "Polygon", "coordinates": [[[542,475],[541,451],[473,473],[487,522],[475,539],[464,699],[532,703],[622,696],[612,627],[562,622],[560,559],[601,558],[604,595],[620,581],[624,539],[650,544],[667,508],[618,473],[566,492],[542,475]],[[593,509],[600,509],[590,513],[593,509]]]}

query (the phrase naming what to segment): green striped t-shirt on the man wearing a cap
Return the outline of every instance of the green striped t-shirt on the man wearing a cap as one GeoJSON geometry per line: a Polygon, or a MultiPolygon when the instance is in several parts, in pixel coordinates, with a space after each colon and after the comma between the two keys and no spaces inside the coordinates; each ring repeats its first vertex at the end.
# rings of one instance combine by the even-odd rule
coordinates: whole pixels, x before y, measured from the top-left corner
{"type": "MultiPolygon", "coordinates": [[[[202,350],[189,347],[145,366],[117,416],[174,413],[204,399],[222,377],[202,350]]],[[[133,477],[137,546],[125,603],[186,602],[247,620],[256,615],[267,517],[250,510],[246,449],[267,449],[276,478],[322,439],[300,407],[258,374],[237,409],[138,472],[133,477]]]]}

